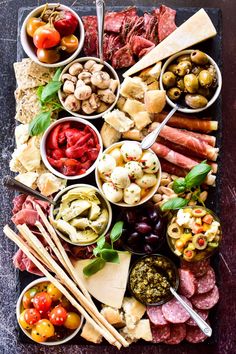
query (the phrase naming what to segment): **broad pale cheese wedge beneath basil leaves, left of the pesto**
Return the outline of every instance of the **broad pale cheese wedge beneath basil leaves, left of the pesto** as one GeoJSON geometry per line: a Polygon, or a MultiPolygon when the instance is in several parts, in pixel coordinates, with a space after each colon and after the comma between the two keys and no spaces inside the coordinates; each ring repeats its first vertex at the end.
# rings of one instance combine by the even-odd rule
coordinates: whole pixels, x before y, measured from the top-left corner
{"type": "Polygon", "coordinates": [[[90,294],[101,303],[117,309],[121,308],[124,299],[131,255],[128,252],[120,252],[119,257],[119,264],[106,263],[103,269],[90,277],[83,275],[83,268],[91,260],[83,259],[73,262],[80,279],[90,294]]]}

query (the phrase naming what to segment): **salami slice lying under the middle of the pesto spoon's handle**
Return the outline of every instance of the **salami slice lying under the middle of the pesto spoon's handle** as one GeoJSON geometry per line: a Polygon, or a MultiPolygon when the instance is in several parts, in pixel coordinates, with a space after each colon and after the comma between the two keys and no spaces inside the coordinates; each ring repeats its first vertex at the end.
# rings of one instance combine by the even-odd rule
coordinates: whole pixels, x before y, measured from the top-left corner
{"type": "MultiPolygon", "coordinates": [[[[181,298],[192,308],[191,302],[181,295],[181,298]]],[[[184,323],[190,315],[175,298],[162,305],[162,312],[165,319],[171,323],[184,323]]]]}

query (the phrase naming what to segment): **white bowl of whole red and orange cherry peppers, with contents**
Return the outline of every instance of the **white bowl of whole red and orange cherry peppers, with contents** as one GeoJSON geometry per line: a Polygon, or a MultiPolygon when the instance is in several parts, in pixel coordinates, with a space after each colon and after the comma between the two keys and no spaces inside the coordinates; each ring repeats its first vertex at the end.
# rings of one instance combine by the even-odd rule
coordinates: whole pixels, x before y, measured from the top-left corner
{"type": "Polygon", "coordinates": [[[58,67],[70,63],[82,50],[84,27],[70,7],[50,3],[28,14],[20,38],[25,53],[34,62],[58,67]]]}

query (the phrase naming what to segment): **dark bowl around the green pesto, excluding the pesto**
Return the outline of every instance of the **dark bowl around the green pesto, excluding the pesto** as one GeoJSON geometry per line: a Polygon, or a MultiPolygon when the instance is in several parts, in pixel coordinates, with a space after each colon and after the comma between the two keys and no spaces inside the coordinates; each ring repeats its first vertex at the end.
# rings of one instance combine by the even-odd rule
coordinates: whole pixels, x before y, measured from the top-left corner
{"type": "MultiPolygon", "coordinates": [[[[136,266],[136,264],[138,264],[139,262],[141,262],[143,259],[147,258],[147,257],[162,257],[164,258],[165,260],[167,260],[170,264],[171,264],[171,267],[173,268],[174,270],[174,273],[175,273],[175,277],[176,277],[176,280],[175,280],[175,284],[174,286],[172,286],[172,288],[174,288],[175,291],[178,290],[179,288],[179,273],[178,273],[178,268],[177,266],[175,265],[175,263],[172,261],[172,259],[170,259],[169,257],[167,256],[164,256],[163,254],[160,254],[160,253],[152,253],[152,254],[149,254],[149,255],[145,255],[143,257],[139,257],[133,264],[132,266],[130,267],[129,269],[129,276],[128,276],[128,290],[130,292],[130,294],[136,299],[138,300],[139,302],[141,302],[141,300],[134,294],[133,290],[131,289],[131,286],[130,286],[130,276],[131,276],[131,272],[133,270],[133,268],[136,266]]],[[[146,305],[146,306],[160,306],[160,305],[163,305],[165,304],[166,302],[170,301],[171,299],[173,299],[173,295],[170,293],[169,296],[167,296],[165,299],[159,301],[159,302],[154,302],[154,303],[142,303],[143,305],[146,305]]]]}

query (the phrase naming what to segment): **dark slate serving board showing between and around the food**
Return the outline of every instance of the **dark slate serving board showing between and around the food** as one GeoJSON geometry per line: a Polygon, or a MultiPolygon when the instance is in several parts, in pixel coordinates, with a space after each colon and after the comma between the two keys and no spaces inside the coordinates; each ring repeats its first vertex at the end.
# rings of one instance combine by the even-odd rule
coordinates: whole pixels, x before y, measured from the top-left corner
{"type": "MultiPolygon", "coordinates": [[[[128,3],[127,3],[128,5],[128,3]]],[[[158,5],[157,5],[158,6],[158,5]]],[[[120,11],[122,10],[124,7],[123,6],[114,6],[112,8],[107,8],[107,10],[112,10],[112,11],[120,11]]],[[[138,12],[139,14],[143,14],[145,11],[146,12],[151,12],[152,9],[154,7],[146,7],[146,6],[139,6],[138,7],[138,12]]],[[[96,15],[96,9],[95,6],[76,6],[73,8],[80,16],[86,16],[86,15],[96,15]]],[[[32,11],[33,8],[31,7],[22,7],[19,9],[18,12],[18,38],[17,38],[17,61],[21,61],[22,58],[27,57],[26,54],[24,53],[24,50],[21,46],[21,42],[20,42],[20,28],[22,26],[22,23],[25,19],[25,17],[28,15],[28,13],[30,11],[32,11]]],[[[182,24],[184,21],[186,21],[189,17],[191,17],[196,11],[198,11],[199,8],[194,8],[194,7],[190,7],[190,8],[176,8],[177,11],[177,15],[176,15],[176,24],[177,26],[179,26],[180,24],[182,24]]],[[[215,61],[216,63],[219,65],[220,69],[222,68],[222,18],[221,18],[221,10],[217,9],[217,8],[206,8],[205,9],[206,12],[208,13],[208,15],[210,16],[216,30],[217,30],[217,36],[209,39],[197,46],[195,46],[195,48],[201,49],[202,51],[206,52],[207,54],[209,54],[215,61]]],[[[84,56],[83,53],[81,53],[80,56],[84,56]]],[[[120,79],[122,81],[122,73],[125,70],[118,70],[118,74],[120,76],[120,79]]],[[[63,112],[62,117],[66,117],[68,116],[69,113],[63,112]]],[[[222,97],[221,95],[219,96],[218,100],[213,104],[213,106],[211,106],[209,109],[207,109],[206,111],[202,112],[202,113],[198,113],[197,116],[200,117],[212,117],[212,119],[217,120],[219,122],[219,128],[218,131],[215,133],[215,136],[217,138],[217,144],[216,146],[219,147],[221,149],[221,145],[222,145],[222,97]]],[[[98,128],[100,129],[102,126],[102,119],[97,119],[97,120],[93,120],[92,123],[98,128]]],[[[222,165],[222,154],[219,154],[218,160],[217,160],[219,169],[218,169],[218,173],[217,173],[217,180],[216,180],[216,188],[210,188],[209,190],[209,195],[208,195],[208,199],[207,199],[207,203],[206,206],[209,209],[212,209],[218,216],[220,216],[220,191],[221,191],[221,165],[222,165]]],[[[77,181],[73,181],[73,184],[75,183],[87,183],[87,184],[93,184],[96,185],[95,183],[95,177],[94,177],[94,173],[88,177],[85,177],[83,179],[80,179],[79,182],[77,181]]],[[[71,184],[71,183],[68,183],[71,184]]],[[[114,213],[115,214],[115,213],[114,213]]],[[[160,250],[161,254],[164,254],[170,258],[172,258],[172,260],[177,264],[178,263],[178,259],[177,257],[175,257],[171,251],[169,250],[167,244],[165,244],[163,246],[163,248],[160,250]]],[[[214,257],[212,257],[212,263],[213,263],[213,267],[216,271],[216,276],[217,279],[219,281],[219,268],[218,268],[218,263],[219,263],[219,256],[216,255],[214,257]]],[[[24,287],[29,284],[31,281],[35,280],[36,278],[38,278],[37,276],[30,274],[28,272],[18,272],[19,274],[19,284],[20,284],[20,288],[18,289],[19,294],[20,292],[24,289],[24,287]]],[[[148,351],[148,350],[152,350],[155,353],[166,353],[167,354],[167,347],[169,347],[170,349],[172,349],[174,351],[174,353],[190,353],[191,349],[193,349],[193,347],[196,347],[200,349],[200,347],[203,349],[206,347],[212,347],[212,349],[215,347],[215,345],[217,344],[217,338],[218,338],[218,323],[220,321],[220,318],[218,318],[218,311],[217,311],[217,306],[210,311],[210,323],[213,329],[213,335],[211,338],[207,339],[204,343],[202,344],[190,344],[187,342],[183,342],[177,346],[168,346],[166,344],[153,344],[150,342],[145,342],[145,341],[139,341],[138,343],[134,343],[131,345],[131,347],[134,347],[134,350],[136,351],[137,349],[139,349],[139,352],[141,354],[141,351],[148,351]],[[156,349],[155,349],[156,348],[156,349]],[[158,350],[157,350],[158,348],[158,350]],[[178,348],[178,350],[177,350],[178,348]]],[[[20,328],[18,328],[18,335],[19,335],[19,339],[22,343],[32,343],[32,341],[24,335],[24,333],[20,330],[20,328]]],[[[94,351],[96,352],[96,348],[98,347],[97,344],[93,344],[93,343],[89,343],[87,341],[85,341],[83,338],[80,337],[80,335],[77,335],[75,338],[73,338],[69,344],[79,344],[81,346],[84,346],[86,348],[90,348],[90,349],[94,349],[94,351]]],[[[67,344],[65,344],[67,345],[67,344]]],[[[107,342],[103,342],[102,344],[99,345],[99,347],[104,348],[104,352],[106,350],[106,352],[108,352],[107,350],[109,350],[109,353],[112,353],[112,347],[107,343],[107,342]]],[[[213,349],[214,350],[214,349],[213,349]]],[[[173,352],[170,350],[170,352],[173,352]]],[[[103,352],[99,351],[99,352],[103,352]]],[[[114,349],[114,353],[115,353],[115,349],[114,349]]],[[[169,353],[169,351],[168,351],[169,353]]]]}

